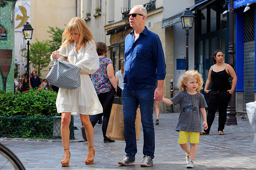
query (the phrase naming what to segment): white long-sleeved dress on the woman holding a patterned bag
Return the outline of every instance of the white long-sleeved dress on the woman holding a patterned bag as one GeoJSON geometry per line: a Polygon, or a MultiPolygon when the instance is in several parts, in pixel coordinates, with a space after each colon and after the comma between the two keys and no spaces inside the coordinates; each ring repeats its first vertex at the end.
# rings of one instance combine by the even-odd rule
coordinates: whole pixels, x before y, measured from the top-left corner
{"type": "MultiPolygon", "coordinates": [[[[68,62],[73,64],[76,61],[76,42],[59,48],[59,54],[68,57],[68,62]]],[[[80,72],[94,73],[99,69],[99,56],[96,52],[96,45],[93,41],[88,41],[86,48],[81,47],[77,56],[77,67],[80,72]]],[[[53,60],[51,55],[51,60],[53,60]]],[[[71,112],[72,115],[96,115],[103,112],[97,93],[89,75],[80,75],[81,85],[74,90],[59,88],[56,99],[57,112],[71,112]]]]}

